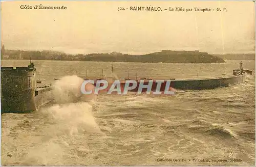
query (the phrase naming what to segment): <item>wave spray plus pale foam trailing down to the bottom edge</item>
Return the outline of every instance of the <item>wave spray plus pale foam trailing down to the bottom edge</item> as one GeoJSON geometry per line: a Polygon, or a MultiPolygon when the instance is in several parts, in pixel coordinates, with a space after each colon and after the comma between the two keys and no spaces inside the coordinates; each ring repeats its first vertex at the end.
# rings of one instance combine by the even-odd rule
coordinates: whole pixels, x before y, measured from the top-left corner
{"type": "MultiPolygon", "coordinates": [[[[83,79],[77,76],[65,76],[56,82],[52,91],[54,104],[40,109],[48,120],[40,145],[29,149],[22,164],[63,164],[65,153],[74,149],[73,138],[87,137],[89,133],[103,134],[93,116],[92,103],[88,102],[94,97],[80,92],[82,82],[83,79]]],[[[88,149],[86,141],[80,147],[88,149]]]]}

